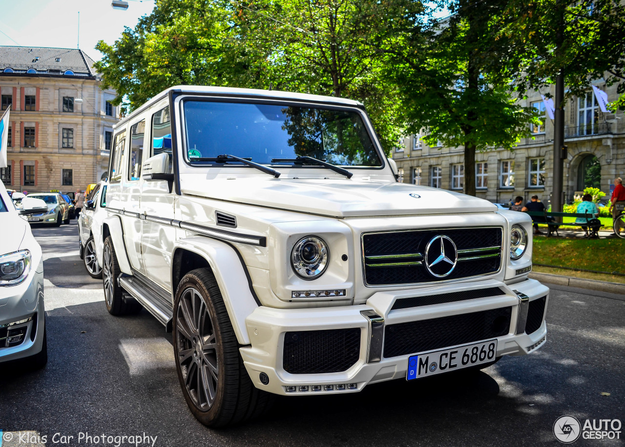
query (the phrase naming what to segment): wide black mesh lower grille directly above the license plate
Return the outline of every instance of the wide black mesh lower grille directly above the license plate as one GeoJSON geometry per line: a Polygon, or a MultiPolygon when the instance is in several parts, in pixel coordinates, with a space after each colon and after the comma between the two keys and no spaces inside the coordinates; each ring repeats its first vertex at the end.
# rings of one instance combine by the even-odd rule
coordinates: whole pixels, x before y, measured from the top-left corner
{"type": "Polygon", "coordinates": [[[510,329],[511,313],[511,307],[502,307],[388,325],[384,330],[384,358],[506,335],[510,329]]]}

